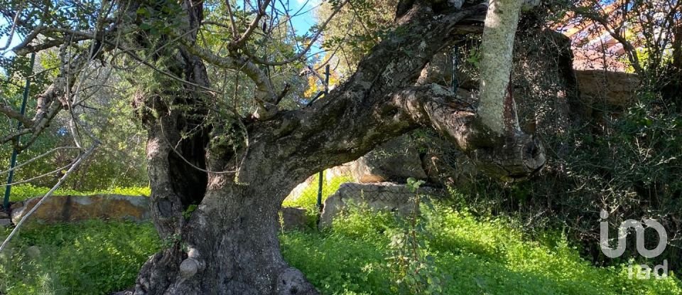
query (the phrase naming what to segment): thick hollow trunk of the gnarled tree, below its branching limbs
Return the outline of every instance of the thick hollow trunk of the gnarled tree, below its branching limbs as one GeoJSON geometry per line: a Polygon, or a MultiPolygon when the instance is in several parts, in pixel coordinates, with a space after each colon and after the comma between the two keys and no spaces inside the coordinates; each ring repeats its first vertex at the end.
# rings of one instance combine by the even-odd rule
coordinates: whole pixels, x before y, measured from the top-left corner
{"type": "Polygon", "coordinates": [[[203,169],[232,157],[205,151],[201,133],[180,141],[191,127],[185,120],[170,111],[146,122],[151,212],[166,249],[144,264],[134,294],[316,294],[279,251],[278,209],[296,180],[278,171],[257,141],[238,181],[235,173],[207,177],[203,169]]]}

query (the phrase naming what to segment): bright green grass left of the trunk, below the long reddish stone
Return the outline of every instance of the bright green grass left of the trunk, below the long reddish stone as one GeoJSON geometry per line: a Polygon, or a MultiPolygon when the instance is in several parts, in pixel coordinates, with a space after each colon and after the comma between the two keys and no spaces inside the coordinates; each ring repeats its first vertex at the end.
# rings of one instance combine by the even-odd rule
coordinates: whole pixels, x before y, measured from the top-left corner
{"type": "MultiPolygon", "coordinates": [[[[0,238],[7,235],[9,230],[1,228],[0,238]]],[[[0,294],[120,291],[134,284],[160,245],[148,222],[89,220],[21,230],[0,254],[0,294]]]]}

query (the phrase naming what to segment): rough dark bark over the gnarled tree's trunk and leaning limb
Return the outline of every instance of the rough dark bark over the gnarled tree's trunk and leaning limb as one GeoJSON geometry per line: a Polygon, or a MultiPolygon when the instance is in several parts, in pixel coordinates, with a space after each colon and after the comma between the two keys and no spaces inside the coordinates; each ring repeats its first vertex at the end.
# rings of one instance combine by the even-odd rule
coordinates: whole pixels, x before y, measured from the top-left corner
{"type": "MultiPolygon", "coordinates": [[[[415,2],[397,20],[400,28],[325,100],[267,120],[225,119],[212,126],[201,119],[208,112],[202,102],[210,100],[199,88],[210,85],[206,69],[186,48],[200,26],[202,4],[183,2],[187,26],[178,35],[184,36],[184,45],[166,46],[161,54],[172,58],[168,70],[188,82],[179,89],[140,93],[134,100],[148,131],[154,224],[171,245],[144,264],[134,294],[317,294],[280,254],[278,210],[283,199],[316,171],[357,159],[418,127],[437,129],[481,168],[506,181],[525,178],[543,166],[536,139],[521,133],[518,123],[501,129],[497,121],[509,125],[516,120],[508,66],[507,73],[490,76],[504,80],[502,90],[490,90],[482,98],[502,102],[504,97],[504,102],[482,104],[478,112],[489,112],[480,115],[475,100],[455,97],[436,85],[415,86],[428,60],[457,40],[458,23],[480,18],[487,6],[435,10],[429,1],[415,2]],[[189,136],[183,134],[190,130],[189,136]],[[248,143],[227,144],[226,136],[234,134],[248,134],[248,143]],[[197,208],[188,215],[190,205],[197,208]]],[[[499,13],[488,10],[491,14],[499,13]]],[[[508,26],[506,32],[512,34],[499,38],[513,39],[512,25],[499,21],[497,26],[508,26]]],[[[500,41],[492,36],[487,35],[491,38],[484,46],[500,41]]],[[[505,56],[511,55],[510,45],[500,46],[508,50],[505,56]]]]}

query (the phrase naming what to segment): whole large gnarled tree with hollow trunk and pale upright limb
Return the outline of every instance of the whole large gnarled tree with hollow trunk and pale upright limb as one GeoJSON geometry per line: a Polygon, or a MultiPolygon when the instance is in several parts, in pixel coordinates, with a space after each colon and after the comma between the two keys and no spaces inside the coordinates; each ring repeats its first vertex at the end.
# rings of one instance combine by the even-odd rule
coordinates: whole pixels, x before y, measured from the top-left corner
{"type": "MultiPolygon", "coordinates": [[[[543,166],[541,144],[519,129],[509,87],[521,1],[463,6],[462,1],[401,1],[396,29],[370,50],[354,75],[323,100],[293,110],[278,108],[286,90],[275,89],[264,66],[300,62],[307,50],[286,60],[253,53],[249,40],[266,21],[266,8],[274,5],[256,2],[246,26],[234,20],[229,4],[225,23],[207,22],[204,6],[209,4],[192,0],[102,1],[113,17],[102,17],[89,31],[33,26],[19,18],[18,25],[31,33],[17,53],[92,40],[88,50],[69,55],[70,68],[38,96],[33,119],[0,109],[25,121],[19,133],[37,136],[55,112],[72,107],[72,83],[92,58],[125,55],[130,68],[147,65],[156,71],[153,85],[140,87],[131,100],[148,131],[153,221],[173,246],[144,264],[134,294],[316,294],[280,254],[283,199],[311,174],[357,159],[413,129],[433,127],[504,181],[521,180],[543,166]],[[418,85],[433,55],[478,31],[470,28],[480,26],[484,16],[480,99],[418,85]],[[174,25],[153,31],[159,22],[174,25]],[[197,42],[205,26],[232,32],[222,53],[197,42]],[[221,104],[207,64],[239,70],[252,80],[254,114],[216,109],[221,104]],[[197,207],[188,215],[190,205],[197,207]]],[[[10,135],[4,140],[11,141],[10,135]]]]}

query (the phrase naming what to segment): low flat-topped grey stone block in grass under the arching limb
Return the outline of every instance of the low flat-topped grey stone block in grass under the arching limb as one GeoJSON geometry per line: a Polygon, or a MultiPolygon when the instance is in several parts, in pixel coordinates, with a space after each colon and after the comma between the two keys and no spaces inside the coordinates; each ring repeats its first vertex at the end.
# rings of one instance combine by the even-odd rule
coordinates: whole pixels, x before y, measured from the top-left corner
{"type": "MultiPolygon", "coordinates": [[[[419,193],[441,195],[443,192],[433,188],[420,188],[419,193]]],[[[324,210],[320,215],[320,227],[332,225],[332,220],[348,205],[367,205],[372,210],[387,210],[399,214],[411,213],[415,195],[404,184],[344,183],[325,200],[324,210]]]]}

